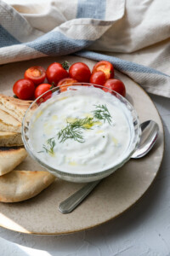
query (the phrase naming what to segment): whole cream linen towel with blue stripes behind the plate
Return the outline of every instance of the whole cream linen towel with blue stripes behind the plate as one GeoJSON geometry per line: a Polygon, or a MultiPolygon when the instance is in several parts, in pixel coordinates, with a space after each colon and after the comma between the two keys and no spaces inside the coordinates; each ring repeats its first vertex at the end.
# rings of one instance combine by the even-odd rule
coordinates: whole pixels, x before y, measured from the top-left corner
{"type": "Polygon", "coordinates": [[[169,0],[7,2],[0,1],[0,64],[75,53],[111,61],[148,92],[170,97],[169,0]]]}

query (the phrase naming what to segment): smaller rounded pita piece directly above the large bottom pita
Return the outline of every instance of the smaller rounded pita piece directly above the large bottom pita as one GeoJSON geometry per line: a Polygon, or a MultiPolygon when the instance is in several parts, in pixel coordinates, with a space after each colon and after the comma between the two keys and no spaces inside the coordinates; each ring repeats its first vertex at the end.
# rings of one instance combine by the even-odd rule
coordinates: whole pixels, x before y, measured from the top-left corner
{"type": "Polygon", "coordinates": [[[0,176],[14,170],[26,158],[24,147],[0,147],[0,176]]]}

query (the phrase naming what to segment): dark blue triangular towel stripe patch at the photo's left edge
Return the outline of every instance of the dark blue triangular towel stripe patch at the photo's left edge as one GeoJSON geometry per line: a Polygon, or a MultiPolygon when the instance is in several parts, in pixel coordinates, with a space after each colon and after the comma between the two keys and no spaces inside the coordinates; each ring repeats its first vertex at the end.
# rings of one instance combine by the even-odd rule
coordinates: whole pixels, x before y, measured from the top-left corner
{"type": "Polygon", "coordinates": [[[0,25],[0,47],[20,44],[3,26],[0,25]]]}

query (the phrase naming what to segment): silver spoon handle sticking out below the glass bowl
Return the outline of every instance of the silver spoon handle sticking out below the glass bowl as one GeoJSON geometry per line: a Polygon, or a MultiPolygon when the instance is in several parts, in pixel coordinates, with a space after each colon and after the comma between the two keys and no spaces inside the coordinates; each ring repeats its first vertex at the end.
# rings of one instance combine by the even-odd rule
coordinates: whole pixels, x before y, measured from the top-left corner
{"type": "Polygon", "coordinates": [[[101,180],[97,180],[95,182],[88,183],[83,186],[82,189],[79,189],[76,193],[68,197],[65,201],[62,201],[59,204],[59,212],[72,212],[100,181],[101,180]]]}

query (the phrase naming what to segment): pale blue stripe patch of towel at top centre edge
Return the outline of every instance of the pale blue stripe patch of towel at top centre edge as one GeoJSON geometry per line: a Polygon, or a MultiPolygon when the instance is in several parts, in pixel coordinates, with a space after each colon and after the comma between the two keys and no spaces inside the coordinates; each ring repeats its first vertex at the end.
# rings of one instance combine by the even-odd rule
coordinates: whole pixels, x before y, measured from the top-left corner
{"type": "Polygon", "coordinates": [[[105,0],[79,0],[77,18],[105,20],[105,0]]]}

